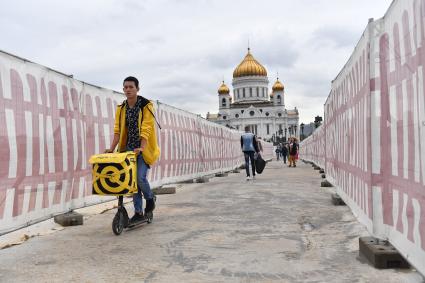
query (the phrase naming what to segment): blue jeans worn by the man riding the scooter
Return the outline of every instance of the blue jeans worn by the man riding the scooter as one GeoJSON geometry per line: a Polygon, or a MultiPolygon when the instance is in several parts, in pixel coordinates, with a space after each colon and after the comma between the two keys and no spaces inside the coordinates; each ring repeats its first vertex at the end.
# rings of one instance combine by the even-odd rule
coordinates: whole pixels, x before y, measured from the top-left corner
{"type": "Polygon", "coordinates": [[[134,211],[143,212],[142,192],[145,199],[152,199],[153,193],[146,178],[150,166],[143,160],[142,153],[137,156],[137,193],[133,194],[134,211]]]}

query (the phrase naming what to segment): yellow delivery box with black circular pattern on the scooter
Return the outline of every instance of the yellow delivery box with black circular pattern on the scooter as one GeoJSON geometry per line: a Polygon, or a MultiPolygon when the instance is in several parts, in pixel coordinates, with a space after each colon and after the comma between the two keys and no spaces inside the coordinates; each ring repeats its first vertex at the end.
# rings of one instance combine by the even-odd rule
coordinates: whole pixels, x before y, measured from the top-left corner
{"type": "Polygon", "coordinates": [[[137,192],[137,158],[132,151],[90,157],[94,195],[128,195],[137,192]]]}

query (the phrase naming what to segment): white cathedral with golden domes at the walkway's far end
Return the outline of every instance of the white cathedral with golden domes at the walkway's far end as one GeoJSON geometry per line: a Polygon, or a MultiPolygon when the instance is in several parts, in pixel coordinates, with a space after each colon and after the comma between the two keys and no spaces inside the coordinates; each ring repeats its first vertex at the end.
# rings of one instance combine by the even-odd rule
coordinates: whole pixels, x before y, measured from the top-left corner
{"type": "Polygon", "coordinates": [[[233,71],[233,98],[226,84],[218,89],[218,114],[207,114],[207,120],[244,131],[250,131],[263,140],[284,142],[299,138],[299,115],[295,107],[285,108],[285,87],[276,79],[272,92],[268,90],[267,70],[248,54],[233,71]]]}

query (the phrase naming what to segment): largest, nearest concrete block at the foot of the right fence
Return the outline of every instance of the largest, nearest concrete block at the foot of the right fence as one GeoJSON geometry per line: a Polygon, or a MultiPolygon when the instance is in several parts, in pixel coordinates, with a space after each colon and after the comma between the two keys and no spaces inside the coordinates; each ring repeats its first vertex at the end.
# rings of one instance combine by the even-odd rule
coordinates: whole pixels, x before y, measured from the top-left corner
{"type": "Polygon", "coordinates": [[[385,240],[374,237],[359,238],[359,253],[375,268],[409,268],[409,263],[385,240]]]}

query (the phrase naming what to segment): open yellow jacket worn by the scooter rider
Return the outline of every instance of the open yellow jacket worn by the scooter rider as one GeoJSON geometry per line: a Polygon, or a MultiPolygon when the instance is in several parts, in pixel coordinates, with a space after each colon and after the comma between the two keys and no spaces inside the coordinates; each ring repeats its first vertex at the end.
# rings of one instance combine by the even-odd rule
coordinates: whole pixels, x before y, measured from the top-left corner
{"type": "MultiPolygon", "coordinates": [[[[139,112],[139,134],[140,138],[145,138],[147,140],[146,147],[143,150],[143,160],[148,165],[153,165],[158,159],[160,154],[160,149],[156,140],[156,131],[155,131],[155,118],[153,116],[154,108],[151,101],[147,100],[147,105],[142,108],[142,111],[139,112]]],[[[126,108],[125,102],[117,106],[117,111],[115,113],[115,124],[114,124],[114,134],[120,135],[120,140],[118,142],[118,151],[126,151],[127,146],[127,125],[125,123],[126,117],[126,108]]]]}

